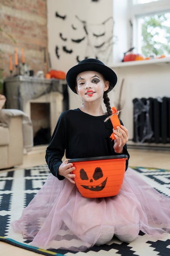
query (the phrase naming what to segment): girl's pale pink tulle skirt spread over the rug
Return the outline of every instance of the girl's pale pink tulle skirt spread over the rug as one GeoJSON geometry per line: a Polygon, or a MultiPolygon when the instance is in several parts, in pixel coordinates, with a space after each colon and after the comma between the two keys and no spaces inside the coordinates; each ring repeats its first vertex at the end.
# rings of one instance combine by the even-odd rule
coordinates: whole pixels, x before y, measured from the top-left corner
{"type": "Polygon", "coordinates": [[[135,239],[139,231],[160,238],[170,232],[170,198],[158,193],[128,168],[120,193],[84,198],[75,184],[52,174],[35,198],[11,223],[30,245],[84,251],[117,236],[135,239]]]}

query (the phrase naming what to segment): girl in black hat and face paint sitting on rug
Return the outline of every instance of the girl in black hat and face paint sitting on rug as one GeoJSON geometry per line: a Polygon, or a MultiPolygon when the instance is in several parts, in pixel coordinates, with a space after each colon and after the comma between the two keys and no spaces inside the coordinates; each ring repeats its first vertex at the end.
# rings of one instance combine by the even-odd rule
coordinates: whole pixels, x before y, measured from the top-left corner
{"type": "MultiPolygon", "coordinates": [[[[12,222],[15,231],[43,249],[83,251],[109,242],[113,235],[121,241],[134,240],[139,231],[159,236],[170,231],[170,198],[158,193],[128,168],[118,195],[84,198],[76,188],[68,159],[125,154],[128,130],[113,129],[108,92],[117,83],[113,70],[97,59],[85,59],[72,67],[68,86],[79,94],[82,106],[60,115],[46,150],[51,174],[22,213],[12,222]],[[102,109],[102,100],[107,112],[102,109]],[[110,135],[114,132],[115,140],[110,135]],[[62,158],[66,159],[62,162],[62,158]]],[[[121,121],[121,120],[120,120],[121,121]]]]}

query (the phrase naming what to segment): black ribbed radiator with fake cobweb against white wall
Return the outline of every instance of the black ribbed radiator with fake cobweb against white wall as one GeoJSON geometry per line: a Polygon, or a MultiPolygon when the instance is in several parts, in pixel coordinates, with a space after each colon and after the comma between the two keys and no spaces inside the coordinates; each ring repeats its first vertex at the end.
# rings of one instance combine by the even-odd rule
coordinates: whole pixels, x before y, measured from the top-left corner
{"type": "Polygon", "coordinates": [[[133,141],[170,143],[170,98],[133,99],[133,141]]]}

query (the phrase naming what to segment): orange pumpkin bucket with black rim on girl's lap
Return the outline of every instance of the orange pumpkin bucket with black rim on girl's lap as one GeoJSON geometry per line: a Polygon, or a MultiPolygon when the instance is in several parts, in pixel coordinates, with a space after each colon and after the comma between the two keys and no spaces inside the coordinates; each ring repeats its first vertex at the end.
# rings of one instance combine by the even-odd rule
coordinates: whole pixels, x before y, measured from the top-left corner
{"type": "Polygon", "coordinates": [[[75,166],[75,184],[86,198],[117,195],[124,181],[127,155],[68,160],[75,166]]]}

